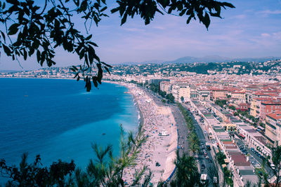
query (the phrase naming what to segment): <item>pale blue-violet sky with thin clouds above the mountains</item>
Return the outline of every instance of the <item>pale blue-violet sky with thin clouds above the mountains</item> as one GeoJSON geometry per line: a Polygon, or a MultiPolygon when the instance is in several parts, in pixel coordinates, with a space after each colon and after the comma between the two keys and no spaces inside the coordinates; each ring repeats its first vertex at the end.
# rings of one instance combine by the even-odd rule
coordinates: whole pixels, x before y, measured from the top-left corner
{"type": "MultiPolygon", "coordinates": [[[[225,0],[227,1],[227,0],[225,0]]],[[[109,64],[176,60],[180,57],[268,57],[281,56],[281,0],[228,0],[236,8],[227,8],[220,18],[211,18],[207,30],[198,20],[186,25],[187,17],[157,14],[150,25],[139,17],[128,18],[120,26],[119,14],[109,13],[115,1],[108,1],[109,18],[103,18],[89,34],[98,44],[96,53],[109,64]]],[[[84,29],[81,21],[74,22],[84,29]]],[[[2,50],[2,49],[1,49],[2,50]]],[[[36,57],[18,62],[1,51],[0,70],[40,68],[36,57]],[[3,55],[2,55],[3,54],[3,55]]],[[[55,67],[66,67],[82,62],[62,49],[56,51],[55,67]]]]}

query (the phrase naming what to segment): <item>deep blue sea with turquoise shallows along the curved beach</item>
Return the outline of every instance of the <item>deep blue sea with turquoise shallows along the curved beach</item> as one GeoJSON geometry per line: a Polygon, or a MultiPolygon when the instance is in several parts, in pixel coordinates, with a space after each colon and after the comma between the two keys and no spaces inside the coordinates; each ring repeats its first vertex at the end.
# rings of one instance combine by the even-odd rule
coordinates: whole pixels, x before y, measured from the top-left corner
{"type": "MultiPolygon", "coordinates": [[[[44,166],[58,159],[86,168],[91,144],[112,145],[119,155],[120,124],[138,130],[138,109],[122,85],[102,83],[86,92],[84,81],[0,78],[0,159],[18,165],[22,153],[44,166]]],[[[0,179],[1,181],[1,179],[0,179]]]]}

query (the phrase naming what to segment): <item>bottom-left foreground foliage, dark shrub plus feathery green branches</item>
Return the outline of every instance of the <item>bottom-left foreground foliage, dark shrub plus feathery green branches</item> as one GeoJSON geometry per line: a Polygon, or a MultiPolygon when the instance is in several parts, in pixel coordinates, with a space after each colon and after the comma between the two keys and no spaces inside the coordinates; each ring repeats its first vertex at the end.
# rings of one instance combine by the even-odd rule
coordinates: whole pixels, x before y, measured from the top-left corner
{"type": "MultiPolygon", "coordinates": [[[[1,160],[0,174],[11,179],[7,186],[124,186],[124,169],[136,165],[136,155],[143,141],[145,137],[142,133],[133,139],[131,132],[127,140],[124,140],[121,127],[119,157],[112,156],[112,146],[102,148],[93,144],[96,159],[90,160],[86,171],[75,169],[74,161],[67,163],[58,160],[50,167],[41,167],[39,155],[34,163],[28,164],[27,154],[23,154],[20,167],[7,166],[5,160],[1,160]]],[[[147,166],[143,166],[136,170],[131,186],[148,186],[151,176],[147,166]]]]}

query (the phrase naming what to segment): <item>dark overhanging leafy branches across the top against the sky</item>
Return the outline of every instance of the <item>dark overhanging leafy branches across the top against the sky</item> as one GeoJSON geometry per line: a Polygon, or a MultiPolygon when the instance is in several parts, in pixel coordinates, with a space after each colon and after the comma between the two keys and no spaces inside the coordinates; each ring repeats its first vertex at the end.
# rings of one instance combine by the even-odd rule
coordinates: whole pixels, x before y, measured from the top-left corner
{"type": "MultiPolygon", "coordinates": [[[[186,16],[186,23],[198,19],[208,29],[210,16],[221,18],[221,8],[235,8],[233,4],[215,0],[179,1],[179,0],[118,0],[117,7],[111,13],[119,13],[121,25],[129,17],[140,15],[148,25],[156,13],[186,16]]],[[[73,66],[77,81],[84,78],[87,91],[91,85],[98,87],[103,78],[103,71],[110,73],[110,65],[102,62],[96,54],[98,47],[89,34],[91,23],[98,23],[107,17],[105,0],[46,0],[41,6],[39,1],[6,0],[0,2],[1,53],[13,60],[36,56],[43,66],[53,66],[56,62],[55,48],[62,47],[68,53],[76,54],[84,63],[73,66]],[[74,18],[84,22],[85,31],[74,25],[74,18]],[[11,37],[13,36],[13,37],[11,37]],[[3,50],[2,50],[3,49],[3,50]],[[95,69],[95,70],[94,70],[95,69]]],[[[19,60],[18,60],[19,62],[19,60]]]]}

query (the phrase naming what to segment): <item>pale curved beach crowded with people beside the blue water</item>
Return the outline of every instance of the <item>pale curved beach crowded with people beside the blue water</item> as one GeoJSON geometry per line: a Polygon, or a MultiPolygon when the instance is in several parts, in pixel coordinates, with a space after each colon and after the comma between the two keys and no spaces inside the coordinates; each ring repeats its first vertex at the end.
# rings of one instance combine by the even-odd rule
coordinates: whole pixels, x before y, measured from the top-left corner
{"type": "Polygon", "coordinates": [[[143,116],[142,131],[148,138],[138,153],[137,165],[124,171],[124,180],[130,184],[134,178],[135,169],[141,169],[146,165],[153,174],[151,182],[157,184],[158,181],[168,179],[175,168],[178,134],[174,116],[169,106],[157,106],[141,88],[131,84],[127,84],[126,87],[129,88],[129,92],[138,104],[143,116]]]}

